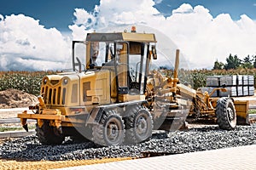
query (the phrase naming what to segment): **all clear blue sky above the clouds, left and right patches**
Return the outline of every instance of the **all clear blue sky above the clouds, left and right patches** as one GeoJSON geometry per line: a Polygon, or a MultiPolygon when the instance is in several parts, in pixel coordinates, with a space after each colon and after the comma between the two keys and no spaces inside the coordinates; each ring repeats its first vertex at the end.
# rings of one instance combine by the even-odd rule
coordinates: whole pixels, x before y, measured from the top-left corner
{"type": "MultiPolygon", "coordinates": [[[[157,3],[154,7],[166,17],[172,14],[173,9],[183,3],[189,3],[192,6],[203,5],[214,17],[227,13],[234,20],[239,20],[241,14],[256,19],[256,0],[155,0],[154,2],[157,3]]],[[[93,11],[95,5],[99,3],[99,0],[1,0],[0,14],[3,16],[25,14],[40,20],[46,28],[55,27],[60,31],[68,31],[68,26],[73,24],[74,8],[93,11]]]]}

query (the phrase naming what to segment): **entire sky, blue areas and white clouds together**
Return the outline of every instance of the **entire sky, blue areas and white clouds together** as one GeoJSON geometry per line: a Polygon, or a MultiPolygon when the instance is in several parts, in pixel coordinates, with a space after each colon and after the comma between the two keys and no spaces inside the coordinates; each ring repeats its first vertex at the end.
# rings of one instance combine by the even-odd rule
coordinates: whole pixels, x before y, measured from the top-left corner
{"type": "Polygon", "coordinates": [[[211,69],[256,55],[255,11],[256,0],[1,0],[0,71],[70,68],[72,40],[131,25],[159,31],[164,64],[180,48],[189,69],[211,69]]]}

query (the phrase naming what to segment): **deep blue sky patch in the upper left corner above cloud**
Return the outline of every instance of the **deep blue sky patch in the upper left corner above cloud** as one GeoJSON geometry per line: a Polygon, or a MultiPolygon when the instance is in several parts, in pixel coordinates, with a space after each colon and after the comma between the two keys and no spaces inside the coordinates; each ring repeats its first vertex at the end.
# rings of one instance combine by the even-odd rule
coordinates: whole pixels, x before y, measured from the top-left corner
{"type": "Polygon", "coordinates": [[[97,4],[98,0],[1,0],[0,14],[25,14],[40,20],[46,28],[67,31],[73,23],[74,8],[91,11],[97,4]]]}

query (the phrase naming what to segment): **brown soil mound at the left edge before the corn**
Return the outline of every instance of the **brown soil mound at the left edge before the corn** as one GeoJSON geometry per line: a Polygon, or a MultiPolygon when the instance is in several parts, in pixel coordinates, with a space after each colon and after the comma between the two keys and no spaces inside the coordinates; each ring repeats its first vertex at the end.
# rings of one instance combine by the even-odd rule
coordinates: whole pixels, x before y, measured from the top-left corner
{"type": "Polygon", "coordinates": [[[0,91],[0,109],[28,107],[36,103],[38,103],[38,98],[32,94],[12,88],[0,91]]]}

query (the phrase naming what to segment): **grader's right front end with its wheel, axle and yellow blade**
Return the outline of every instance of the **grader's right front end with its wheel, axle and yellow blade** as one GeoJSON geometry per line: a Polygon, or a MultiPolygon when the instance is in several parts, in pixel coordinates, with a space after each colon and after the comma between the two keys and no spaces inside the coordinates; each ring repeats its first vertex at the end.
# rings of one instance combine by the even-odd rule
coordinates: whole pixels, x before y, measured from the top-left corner
{"type": "Polygon", "coordinates": [[[188,122],[218,123],[220,128],[232,130],[236,124],[249,125],[248,100],[240,98],[222,97],[211,95],[216,90],[226,91],[226,88],[215,88],[211,94],[201,93],[199,89],[193,99],[193,105],[187,117],[188,122]]]}

